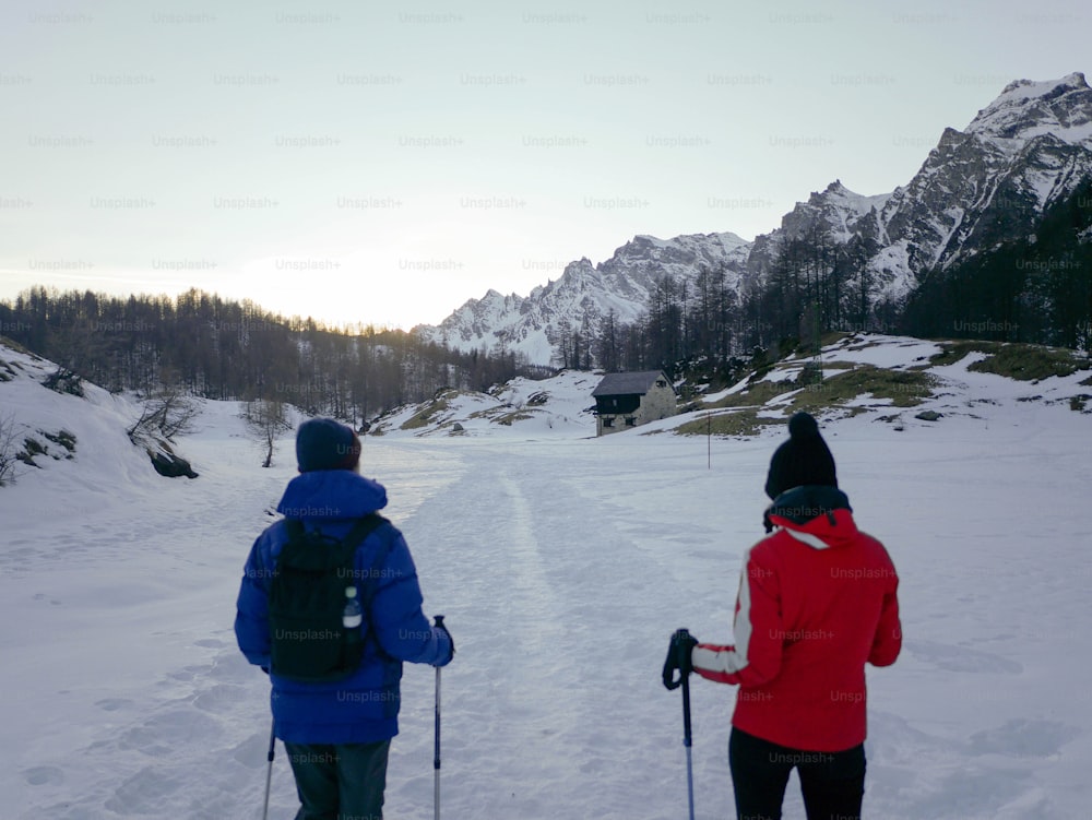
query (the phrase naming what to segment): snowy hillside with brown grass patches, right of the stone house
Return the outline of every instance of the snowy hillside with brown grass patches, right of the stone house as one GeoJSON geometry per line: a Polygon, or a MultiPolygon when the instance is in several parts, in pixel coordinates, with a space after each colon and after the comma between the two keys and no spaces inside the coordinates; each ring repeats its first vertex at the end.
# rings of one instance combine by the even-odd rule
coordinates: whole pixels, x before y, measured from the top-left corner
{"type": "MultiPolygon", "coordinates": [[[[752,435],[780,429],[805,409],[832,421],[882,423],[895,432],[988,419],[984,405],[1060,408],[1092,421],[1088,358],[1038,345],[924,341],[881,334],[841,336],[822,347],[823,379],[809,380],[810,356],[790,356],[729,390],[705,396],[691,420],[673,429],[752,435]]],[[[677,419],[676,419],[677,420],[677,419]]],[[[665,423],[658,423],[664,426],[665,423]]]]}

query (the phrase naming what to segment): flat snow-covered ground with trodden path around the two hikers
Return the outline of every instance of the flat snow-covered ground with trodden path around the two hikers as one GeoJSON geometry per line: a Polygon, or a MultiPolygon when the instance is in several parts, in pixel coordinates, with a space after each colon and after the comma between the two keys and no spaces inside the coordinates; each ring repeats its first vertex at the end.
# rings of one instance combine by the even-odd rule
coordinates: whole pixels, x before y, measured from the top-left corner
{"type": "MultiPolygon", "coordinates": [[[[973,402],[973,415],[901,432],[868,415],[824,427],[858,522],[902,578],[903,655],[869,670],[865,812],[1083,818],[1092,417],[1017,401],[1046,382],[965,363],[945,372],[941,401],[973,402]]],[[[290,436],[261,470],[238,406],[205,403],[179,440],[200,478],[163,479],[111,431],[131,409],[0,383],[0,416],[78,437],[74,459],[0,488],[3,820],[260,817],[269,686],[232,622],[247,551],[294,474],[290,436]]],[[[707,468],[702,438],[489,429],[369,437],[364,450],[426,611],[447,615],[459,649],[443,672],[443,816],[684,817],[680,698],[660,681],[667,639],[685,626],[731,640],[783,433],[713,440],[707,468]]],[[[432,687],[430,668],[406,667],[389,817],[432,810],[432,687]]],[[[733,696],[693,682],[699,818],[731,816],[733,696]]],[[[271,817],[295,807],[278,745],[271,817]]],[[[794,777],[786,818],[803,816],[794,777]]]]}

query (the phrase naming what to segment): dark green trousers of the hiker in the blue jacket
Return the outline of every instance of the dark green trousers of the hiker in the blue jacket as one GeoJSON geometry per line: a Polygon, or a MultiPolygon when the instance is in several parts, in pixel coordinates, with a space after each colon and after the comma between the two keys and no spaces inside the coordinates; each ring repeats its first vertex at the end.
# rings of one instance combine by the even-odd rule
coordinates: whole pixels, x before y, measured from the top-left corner
{"type": "Polygon", "coordinates": [[[300,808],[296,820],[382,820],[390,740],[285,744],[300,808]]]}

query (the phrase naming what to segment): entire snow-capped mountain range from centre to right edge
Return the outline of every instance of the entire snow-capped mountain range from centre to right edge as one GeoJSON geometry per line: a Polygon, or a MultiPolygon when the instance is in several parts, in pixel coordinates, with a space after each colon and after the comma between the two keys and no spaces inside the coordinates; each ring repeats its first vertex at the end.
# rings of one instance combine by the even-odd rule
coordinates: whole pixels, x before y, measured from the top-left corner
{"type": "Polygon", "coordinates": [[[645,311],[657,280],[723,268],[735,288],[761,287],[780,248],[816,228],[833,242],[856,239],[871,274],[873,301],[898,304],[918,275],[949,268],[1005,238],[1035,233],[1043,211],[1092,176],[1092,88],[1082,73],[1052,82],[1018,80],[963,130],[948,128],[921,169],[891,193],[862,195],[835,180],[747,242],[735,234],[638,236],[609,260],[570,263],[529,296],[490,290],[471,299],[426,337],[464,350],[499,346],[548,364],[566,328],[614,310],[645,311]]]}

